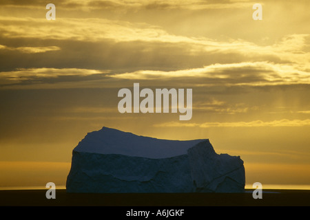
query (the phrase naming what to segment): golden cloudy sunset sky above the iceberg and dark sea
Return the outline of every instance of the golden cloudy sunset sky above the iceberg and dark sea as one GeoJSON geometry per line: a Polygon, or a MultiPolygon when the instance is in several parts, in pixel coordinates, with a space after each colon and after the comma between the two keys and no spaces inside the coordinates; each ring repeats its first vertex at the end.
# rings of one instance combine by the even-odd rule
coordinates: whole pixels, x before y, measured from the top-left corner
{"type": "Polygon", "coordinates": [[[261,21],[254,3],[0,1],[0,186],[64,185],[102,126],[209,138],[245,161],[247,184],[310,185],[310,1],[259,1],[261,21]],[[192,119],[119,113],[134,83],[193,89],[192,119]]]}

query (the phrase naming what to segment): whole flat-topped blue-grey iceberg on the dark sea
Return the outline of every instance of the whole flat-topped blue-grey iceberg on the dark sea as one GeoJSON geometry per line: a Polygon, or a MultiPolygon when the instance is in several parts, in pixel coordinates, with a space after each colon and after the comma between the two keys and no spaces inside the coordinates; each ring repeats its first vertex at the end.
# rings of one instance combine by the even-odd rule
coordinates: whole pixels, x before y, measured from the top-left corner
{"type": "Polygon", "coordinates": [[[209,140],[160,140],[103,127],[72,151],[67,192],[243,192],[240,157],[209,140]]]}

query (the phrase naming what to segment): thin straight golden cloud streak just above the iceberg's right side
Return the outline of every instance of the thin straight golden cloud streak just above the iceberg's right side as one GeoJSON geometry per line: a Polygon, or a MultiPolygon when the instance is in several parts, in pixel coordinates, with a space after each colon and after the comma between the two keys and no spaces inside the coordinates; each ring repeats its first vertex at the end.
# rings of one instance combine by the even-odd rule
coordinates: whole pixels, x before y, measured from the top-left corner
{"type": "Polygon", "coordinates": [[[159,127],[199,127],[207,129],[211,127],[278,127],[278,126],[309,126],[310,119],[307,120],[273,120],[271,122],[263,122],[261,120],[251,122],[205,122],[205,123],[181,123],[181,122],[164,122],[155,124],[159,127]]]}

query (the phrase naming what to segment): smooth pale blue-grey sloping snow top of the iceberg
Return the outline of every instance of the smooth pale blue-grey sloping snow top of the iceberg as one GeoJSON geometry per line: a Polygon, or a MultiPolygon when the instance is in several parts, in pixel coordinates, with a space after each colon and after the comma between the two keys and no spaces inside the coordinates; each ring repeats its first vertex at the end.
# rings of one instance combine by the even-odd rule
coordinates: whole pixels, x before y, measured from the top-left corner
{"type": "Polygon", "coordinates": [[[188,148],[201,141],[161,140],[103,127],[87,133],[74,151],[160,159],[187,154],[188,148]]]}

